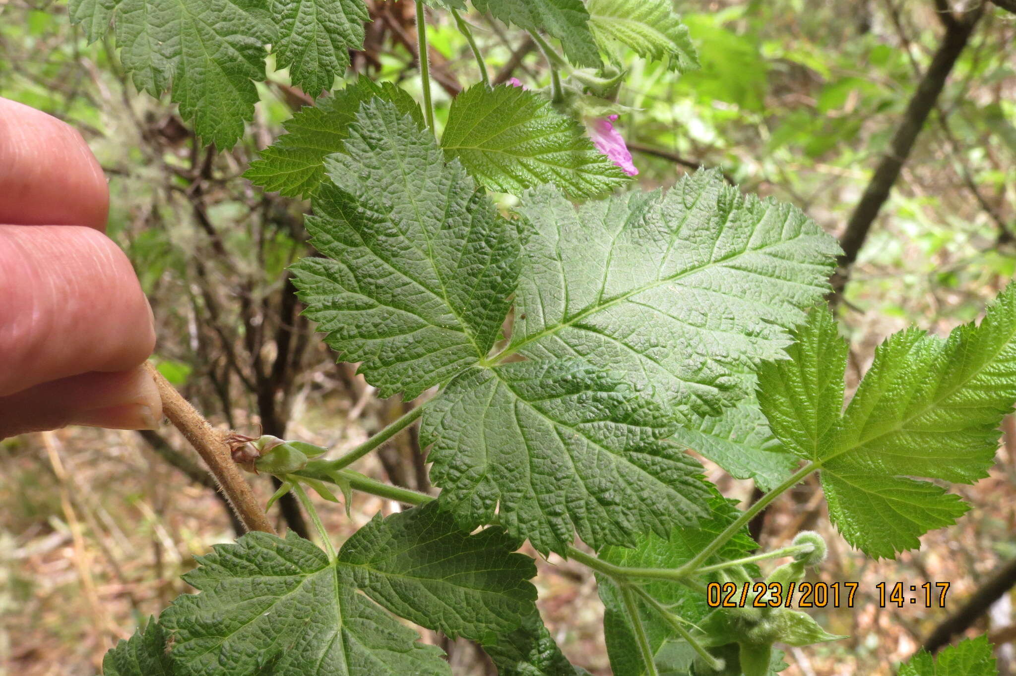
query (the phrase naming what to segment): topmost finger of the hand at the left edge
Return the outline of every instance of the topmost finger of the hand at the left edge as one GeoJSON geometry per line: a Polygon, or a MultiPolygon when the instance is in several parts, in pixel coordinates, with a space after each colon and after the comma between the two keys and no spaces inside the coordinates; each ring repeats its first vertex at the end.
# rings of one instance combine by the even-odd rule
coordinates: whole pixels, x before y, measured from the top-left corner
{"type": "Polygon", "coordinates": [[[81,135],[0,97],[0,223],[106,229],[110,191],[81,135]]]}

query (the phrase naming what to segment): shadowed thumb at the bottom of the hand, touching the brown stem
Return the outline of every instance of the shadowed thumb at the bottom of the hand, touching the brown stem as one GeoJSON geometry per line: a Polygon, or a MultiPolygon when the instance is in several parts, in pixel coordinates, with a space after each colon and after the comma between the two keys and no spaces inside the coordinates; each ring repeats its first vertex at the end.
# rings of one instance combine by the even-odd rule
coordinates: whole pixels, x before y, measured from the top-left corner
{"type": "Polygon", "coordinates": [[[143,366],[50,381],[0,397],[0,438],[66,425],[154,429],[158,390],[143,366]]]}

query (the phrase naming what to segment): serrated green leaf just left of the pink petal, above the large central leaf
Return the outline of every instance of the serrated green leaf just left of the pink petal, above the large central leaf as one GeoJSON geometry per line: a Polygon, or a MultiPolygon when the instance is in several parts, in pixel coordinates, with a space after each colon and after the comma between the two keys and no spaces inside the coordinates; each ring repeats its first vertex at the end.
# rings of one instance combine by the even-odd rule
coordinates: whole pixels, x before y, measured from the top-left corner
{"type": "Polygon", "coordinates": [[[546,97],[507,84],[478,84],[452,99],[441,146],[478,182],[515,195],[554,183],[584,197],[628,183],[580,124],[546,97]]]}

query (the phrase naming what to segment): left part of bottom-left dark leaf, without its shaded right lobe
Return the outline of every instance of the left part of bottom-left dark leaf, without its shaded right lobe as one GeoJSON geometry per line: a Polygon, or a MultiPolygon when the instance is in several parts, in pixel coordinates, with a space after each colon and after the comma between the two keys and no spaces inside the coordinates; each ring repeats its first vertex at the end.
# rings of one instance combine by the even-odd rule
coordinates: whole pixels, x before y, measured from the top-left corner
{"type": "Polygon", "coordinates": [[[357,592],[311,542],[248,533],[199,557],[163,612],[178,676],[450,676],[441,651],[357,592]]]}

